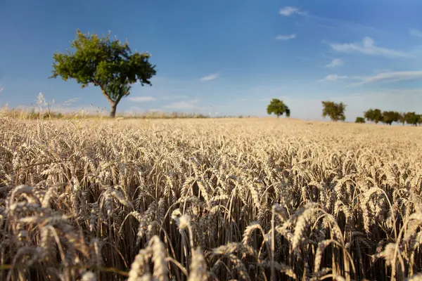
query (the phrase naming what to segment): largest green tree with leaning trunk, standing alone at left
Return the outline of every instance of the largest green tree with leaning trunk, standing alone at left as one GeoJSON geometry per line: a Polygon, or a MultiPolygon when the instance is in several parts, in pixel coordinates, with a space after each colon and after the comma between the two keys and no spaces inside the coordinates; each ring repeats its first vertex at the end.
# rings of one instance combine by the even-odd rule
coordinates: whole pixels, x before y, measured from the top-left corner
{"type": "Polygon", "coordinates": [[[151,77],[156,74],[148,53],[132,51],[129,45],[117,39],[98,37],[97,34],[83,34],[77,30],[77,37],[70,43],[74,52],[53,54],[53,75],[64,81],[75,79],[82,88],[89,84],[100,87],[110,103],[110,117],[115,117],[117,104],[129,96],[131,85],[139,81],[141,85],[151,85],[151,77]]]}

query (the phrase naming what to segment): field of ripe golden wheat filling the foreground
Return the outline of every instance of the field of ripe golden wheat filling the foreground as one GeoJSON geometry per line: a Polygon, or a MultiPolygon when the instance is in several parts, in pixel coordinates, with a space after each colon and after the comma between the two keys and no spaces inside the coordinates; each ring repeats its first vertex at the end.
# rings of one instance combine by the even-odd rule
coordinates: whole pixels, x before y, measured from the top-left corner
{"type": "Polygon", "coordinates": [[[0,117],[0,280],[422,280],[422,131],[0,117]]]}

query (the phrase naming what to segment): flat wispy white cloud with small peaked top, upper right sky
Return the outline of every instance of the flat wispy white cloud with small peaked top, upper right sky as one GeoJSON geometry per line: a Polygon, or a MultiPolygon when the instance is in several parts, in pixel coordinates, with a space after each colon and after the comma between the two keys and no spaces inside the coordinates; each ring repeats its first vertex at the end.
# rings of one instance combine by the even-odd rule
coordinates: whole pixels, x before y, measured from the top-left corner
{"type": "Polygon", "coordinates": [[[388,48],[381,48],[375,45],[371,37],[365,37],[362,44],[359,43],[332,43],[330,44],[334,51],[340,53],[363,53],[365,55],[382,55],[390,58],[400,58],[409,56],[402,51],[395,51],[388,48]]]}

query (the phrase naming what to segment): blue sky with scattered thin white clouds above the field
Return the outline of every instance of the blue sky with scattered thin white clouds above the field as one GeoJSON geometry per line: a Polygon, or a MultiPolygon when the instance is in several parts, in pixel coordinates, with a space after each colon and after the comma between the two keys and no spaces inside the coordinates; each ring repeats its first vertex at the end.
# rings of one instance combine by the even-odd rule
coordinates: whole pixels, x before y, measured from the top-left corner
{"type": "Polygon", "coordinates": [[[48,79],[76,30],[151,53],[153,86],[136,84],[117,113],[163,110],[322,119],[321,100],[422,113],[420,0],[0,1],[0,104],[108,110],[94,86],[48,79]]]}

